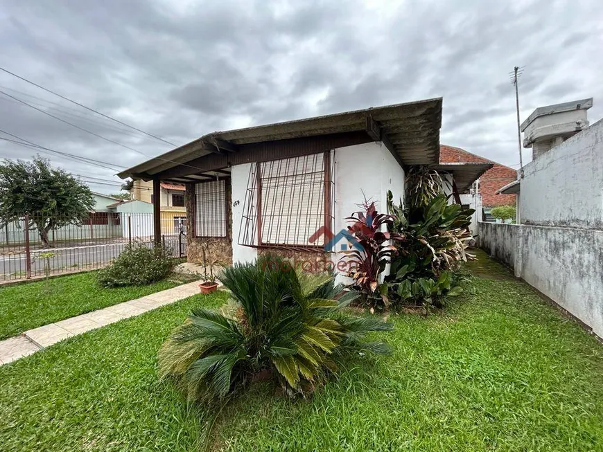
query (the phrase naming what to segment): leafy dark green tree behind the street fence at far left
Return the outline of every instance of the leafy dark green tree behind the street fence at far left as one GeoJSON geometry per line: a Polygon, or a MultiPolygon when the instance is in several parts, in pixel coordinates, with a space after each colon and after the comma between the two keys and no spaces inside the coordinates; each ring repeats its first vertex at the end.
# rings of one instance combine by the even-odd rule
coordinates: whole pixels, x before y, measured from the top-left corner
{"type": "Polygon", "coordinates": [[[80,224],[93,207],[90,189],[64,170],[51,168],[47,159],[0,164],[0,227],[29,215],[26,228],[37,229],[49,247],[49,231],[80,224]]]}

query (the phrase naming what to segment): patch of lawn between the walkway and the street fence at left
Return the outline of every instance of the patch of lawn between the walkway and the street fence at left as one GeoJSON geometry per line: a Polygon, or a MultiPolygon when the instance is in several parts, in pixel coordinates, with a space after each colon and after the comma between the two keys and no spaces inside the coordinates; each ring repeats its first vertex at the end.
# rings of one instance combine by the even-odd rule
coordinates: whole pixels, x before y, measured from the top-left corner
{"type": "Polygon", "coordinates": [[[105,289],[96,275],[91,271],[51,278],[48,290],[44,280],[0,287],[0,339],[181,284],[172,279],[105,289]]]}

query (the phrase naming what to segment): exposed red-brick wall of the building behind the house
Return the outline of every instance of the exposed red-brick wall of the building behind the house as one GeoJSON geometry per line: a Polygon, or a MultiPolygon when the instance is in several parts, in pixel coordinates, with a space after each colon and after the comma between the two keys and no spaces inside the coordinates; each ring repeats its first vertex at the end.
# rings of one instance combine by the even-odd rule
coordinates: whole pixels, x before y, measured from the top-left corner
{"type": "Polygon", "coordinates": [[[482,195],[482,206],[505,206],[515,204],[515,195],[496,195],[496,190],[517,179],[517,172],[500,163],[485,159],[482,156],[471,154],[460,147],[441,145],[439,147],[440,163],[468,163],[468,162],[491,162],[492,168],[480,177],[480,194],[482,195]]]}

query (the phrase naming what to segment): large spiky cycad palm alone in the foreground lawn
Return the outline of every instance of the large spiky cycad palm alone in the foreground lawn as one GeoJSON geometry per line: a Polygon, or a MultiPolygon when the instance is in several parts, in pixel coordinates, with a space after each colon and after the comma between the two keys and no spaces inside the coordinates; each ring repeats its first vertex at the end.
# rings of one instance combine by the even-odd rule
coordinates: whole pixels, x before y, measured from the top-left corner
{"type": "Polygon", "coordinates": [[[225,269],[221,280],[238,305],[234,314],[194,309],[159,350],[161,379],[172,377],[190,400],[223,404],[267,375],[288,395],[308,395],[344,353],[389,350],[365,338],[392,326],[344,316],[358,294],[342,293],[332,275],[306,275],[265,255],[225,269]]]}

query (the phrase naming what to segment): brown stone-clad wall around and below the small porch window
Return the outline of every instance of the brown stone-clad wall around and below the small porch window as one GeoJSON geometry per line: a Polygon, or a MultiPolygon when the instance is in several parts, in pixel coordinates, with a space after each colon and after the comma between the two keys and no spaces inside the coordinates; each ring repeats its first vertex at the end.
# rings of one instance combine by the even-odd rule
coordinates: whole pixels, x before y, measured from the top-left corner
{"type": "Polygon", "coordinates": [[[231,184],[230,179],[226,181],[226,215],[228,225],[226,237],[194,237],[193,225],[195,224],[195,184],[187,183],[184,192],[184,204],[186,206],[186,257],[189,262],[201,264],[203,261],[202,244],[208,243],[208,260],[217,264],[232,264],[232,211],[231,211],[231,184]]]}

